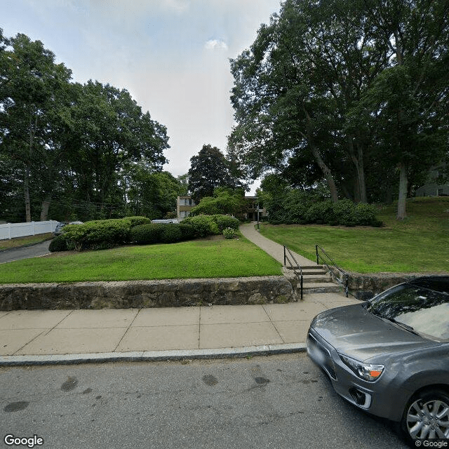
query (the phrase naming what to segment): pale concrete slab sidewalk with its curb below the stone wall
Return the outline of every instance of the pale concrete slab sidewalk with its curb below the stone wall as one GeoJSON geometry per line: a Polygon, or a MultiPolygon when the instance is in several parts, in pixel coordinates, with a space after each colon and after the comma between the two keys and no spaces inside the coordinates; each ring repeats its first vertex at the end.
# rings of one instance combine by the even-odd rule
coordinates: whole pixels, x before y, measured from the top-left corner
{"type": "Polygon", "coordinates": [[[316,314],[354,303],[319,293],[288,304],[0,311],[0,366],[302,351],[316,314]]]}

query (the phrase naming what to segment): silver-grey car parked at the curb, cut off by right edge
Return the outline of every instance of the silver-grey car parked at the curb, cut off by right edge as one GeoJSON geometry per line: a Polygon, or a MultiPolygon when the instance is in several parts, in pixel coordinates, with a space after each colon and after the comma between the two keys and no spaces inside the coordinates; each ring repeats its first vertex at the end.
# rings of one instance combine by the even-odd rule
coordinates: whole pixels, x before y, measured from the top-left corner
{"type": "Polygon", "coordinates": [[[423,277],[311,322],[311,359],[354,406],[409,443],[449,438],[449,276],[423,277]]]}

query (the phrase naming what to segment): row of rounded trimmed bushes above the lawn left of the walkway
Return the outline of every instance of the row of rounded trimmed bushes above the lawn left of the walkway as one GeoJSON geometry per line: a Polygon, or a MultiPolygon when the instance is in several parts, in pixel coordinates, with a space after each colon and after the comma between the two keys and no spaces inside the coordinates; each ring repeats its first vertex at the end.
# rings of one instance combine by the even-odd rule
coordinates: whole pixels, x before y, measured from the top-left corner
{"type": "Polygon", "coordinates": [[[83,225],[67,225],[50,243],[51,252],[106,249],[126,243],[175,243],[221,234],[239,228],[239,220],[227,215],[187,217],[179,225],[152,223],[147,217],[95,220],[83,225]]]}

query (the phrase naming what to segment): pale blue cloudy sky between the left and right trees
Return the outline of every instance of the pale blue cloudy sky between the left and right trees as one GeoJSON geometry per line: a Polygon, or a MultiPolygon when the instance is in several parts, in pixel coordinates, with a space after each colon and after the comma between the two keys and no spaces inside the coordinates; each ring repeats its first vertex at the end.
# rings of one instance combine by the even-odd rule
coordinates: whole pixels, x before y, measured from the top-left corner
{"type": "Polygon", "coordinates": [[[163,169],[177,176],[204,144],[225,154],[234,124],[229,58],[279,8],[280,0],[1,0],[0,28],[42,41],[73,81],[128,90],[167,127],[163,169]]]}

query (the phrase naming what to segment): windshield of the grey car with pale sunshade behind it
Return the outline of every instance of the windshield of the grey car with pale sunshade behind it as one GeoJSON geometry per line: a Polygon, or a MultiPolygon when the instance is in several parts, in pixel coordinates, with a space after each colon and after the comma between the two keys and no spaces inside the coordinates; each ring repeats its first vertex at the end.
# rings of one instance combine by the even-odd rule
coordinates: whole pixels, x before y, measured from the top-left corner
{"type": "Polygon", "coordinates": [[[402,285],[376,296],[366,309],[376,316],[411,326],[431,339],[449,340],[448,293],[402,285]]]}

